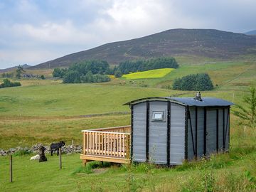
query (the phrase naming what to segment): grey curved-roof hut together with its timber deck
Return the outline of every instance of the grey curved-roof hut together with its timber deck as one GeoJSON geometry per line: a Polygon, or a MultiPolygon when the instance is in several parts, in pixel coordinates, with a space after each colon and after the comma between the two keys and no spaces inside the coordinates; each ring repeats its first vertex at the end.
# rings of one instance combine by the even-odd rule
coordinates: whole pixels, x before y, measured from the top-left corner
{"type": "Polygon", "coordinates": [[[131,126],[83,130],[87,161],[167,166],[229,150],[232,102],[213,97],[147,97],[126,103],[131,126]]]}

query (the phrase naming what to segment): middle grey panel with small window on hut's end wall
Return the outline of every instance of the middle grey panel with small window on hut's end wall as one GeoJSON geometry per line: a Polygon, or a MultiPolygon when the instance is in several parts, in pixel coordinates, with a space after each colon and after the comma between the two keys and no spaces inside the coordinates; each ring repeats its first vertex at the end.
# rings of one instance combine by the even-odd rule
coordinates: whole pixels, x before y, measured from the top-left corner
{"type": "Polygon", "coordinates": [[[167,102],[150,102],[149,105],[149,161],[166,164],[167,102]]]}

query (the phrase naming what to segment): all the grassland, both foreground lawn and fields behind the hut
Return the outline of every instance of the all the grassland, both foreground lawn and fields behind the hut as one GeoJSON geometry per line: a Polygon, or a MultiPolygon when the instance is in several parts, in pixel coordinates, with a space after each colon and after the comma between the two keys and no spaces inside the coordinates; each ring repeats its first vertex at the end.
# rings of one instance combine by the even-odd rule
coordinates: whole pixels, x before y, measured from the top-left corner
{"type": "MultiPolygon", "coordinates": [[[[248,85],[256,82],[255,71],[256,63],[223,62],[181,65],[163,78],[134,80],[134,84],[118,79],[72,85],[21,80],[21,87],[0,89],[0,149],[59,140],[81,144],[82,129],[130,124],[130,114],[112,114],[129,112],[125,102],[141,97],[193,97],[195,92],[169,89],[175,78],[191,73],[209,73],[212,78],[215,89],[202,92],[203,97],[242,104],[248,85]]],[[[78,154],[63,155],[63,170],[58,170],[56,156],[47,156],[48,162],[41,164],[29,161],[30,156],[14,156],[14,183],[9,183],[8,158],[0,157],[0,191],[128,191],[128,178],[131,191],[256,191],[256,132],[249,128],[244,132],[233,115],[230,120],[230,154],[208,161],[176,169],[111,166],[86,174],[90,166],[82,169],[78,154]]]]}

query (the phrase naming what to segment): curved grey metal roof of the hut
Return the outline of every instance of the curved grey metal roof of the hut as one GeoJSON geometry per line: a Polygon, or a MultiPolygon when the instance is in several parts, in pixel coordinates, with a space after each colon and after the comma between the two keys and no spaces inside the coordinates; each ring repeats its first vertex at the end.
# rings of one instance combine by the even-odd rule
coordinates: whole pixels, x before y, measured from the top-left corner
{"type": "Polygon", "coordinates": [[[132,100],[131,102],[127,102],[124,105],[134,105],[139,102],[145,101],[162,101],[162,100],[171,100],[172,102],[176,102],[180,105],[187,106],[198,106],[198,107],[213,107],[213,106],[230,106],[234,105],[233,102],[228,102],[226,100],[218,99],[215,97],[202,97],[202,101],[195,100],[193,97],[146,97],[138,100],[132,100]]]}

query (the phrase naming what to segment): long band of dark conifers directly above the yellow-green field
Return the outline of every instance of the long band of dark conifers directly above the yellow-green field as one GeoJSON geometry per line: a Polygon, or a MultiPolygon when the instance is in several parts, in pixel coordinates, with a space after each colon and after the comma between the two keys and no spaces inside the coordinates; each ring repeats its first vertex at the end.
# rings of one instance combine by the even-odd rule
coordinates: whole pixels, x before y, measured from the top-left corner
{"type": "Polygon", "coordinates": [[[152,58],[149,60],[127,60],[119,63],[119,70],[122,74],[134,73],[137,71],[154,70],[160,68],[178,68],[175,58],[152,58]]]}

